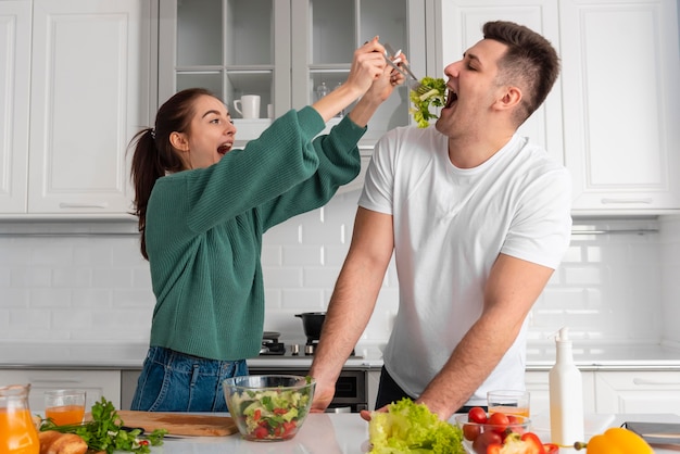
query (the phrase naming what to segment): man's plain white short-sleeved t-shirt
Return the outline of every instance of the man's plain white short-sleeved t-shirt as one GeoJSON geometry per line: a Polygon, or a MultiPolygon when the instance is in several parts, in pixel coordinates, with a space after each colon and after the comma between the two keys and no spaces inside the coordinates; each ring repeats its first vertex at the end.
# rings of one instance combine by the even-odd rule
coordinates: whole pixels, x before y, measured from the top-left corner
{"type": "MultiPolygon", "coordinates": [[[[567,169],[524,137],[475,168],[455,167],[433,127],[396,128],[377,143],[358,204],[393,218],[400,304],[383,360],[404,391],[419,395],[479,318],[499,253],[557,267],[570,192],[567,169]]],[[[468,405],[486,405],[491,389],[524,389],[526,325],[468,405]]]]}

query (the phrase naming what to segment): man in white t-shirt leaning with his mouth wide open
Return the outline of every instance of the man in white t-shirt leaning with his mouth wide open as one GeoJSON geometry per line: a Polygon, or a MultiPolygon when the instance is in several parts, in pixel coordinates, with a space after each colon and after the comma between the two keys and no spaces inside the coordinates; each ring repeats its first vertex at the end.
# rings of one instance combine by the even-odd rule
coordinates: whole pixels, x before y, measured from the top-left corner
{"type": "MultiPolygon", "coordinates": [[[[375,307],[392,252],[399,312],[376,407],[410,396],[441,419],[524,389],[526,317],[569,242],[570,177],[516,134],[559,72],[534,31],[487,23],[444,68],[433,128],[398,128],[376,146],[311,374],[313,409],[375,307]]],[[[364,415],[368,417],[368,415],[364,415]]]]}

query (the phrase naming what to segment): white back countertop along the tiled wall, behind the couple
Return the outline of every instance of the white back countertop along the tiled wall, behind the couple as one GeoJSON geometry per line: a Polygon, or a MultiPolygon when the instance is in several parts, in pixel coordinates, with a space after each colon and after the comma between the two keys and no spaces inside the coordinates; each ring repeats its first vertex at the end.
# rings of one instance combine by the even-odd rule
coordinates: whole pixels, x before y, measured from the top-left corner
{"type": "MultiPolygon", "coordinates": [[[[347,367],[382,366],[382,344],[360,343],[360,357],[347,367]]],[[[148,345],[142,342],[0,342],[0,368],[139,369],[148,345]]],[[[680,370],[680,349],[659,344],[606,344],[575,341],[574,356],[582,370],[680,370]]],[[[547,370],[555,362],[554,345],[529,343],[527,370],[547,370]]],[[[312,356],[259,356],[251,367],[308,367],[312,356]]]]}

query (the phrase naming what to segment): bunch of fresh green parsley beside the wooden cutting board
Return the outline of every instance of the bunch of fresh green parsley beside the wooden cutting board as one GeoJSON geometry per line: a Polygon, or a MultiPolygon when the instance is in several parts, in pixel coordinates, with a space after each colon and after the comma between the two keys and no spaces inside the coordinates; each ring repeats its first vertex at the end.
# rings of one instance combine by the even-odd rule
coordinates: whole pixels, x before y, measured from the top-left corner
{"type": "Polygon", "coordinates": [[[163,444],[165,429],[156,429],[140,438],[141,430],[123,429],[123,419],[116,413],[113,404],[101,398],[100,402],[92,405],[92,420],[85,424],[56,426],[51,419],[42,419],[40,431],[55,430],[62,433],[75,433],[79,436],[89,450],[105,451],[112,454],[114,451],[133,453],[150,453],[150,446],[163,444]]]}

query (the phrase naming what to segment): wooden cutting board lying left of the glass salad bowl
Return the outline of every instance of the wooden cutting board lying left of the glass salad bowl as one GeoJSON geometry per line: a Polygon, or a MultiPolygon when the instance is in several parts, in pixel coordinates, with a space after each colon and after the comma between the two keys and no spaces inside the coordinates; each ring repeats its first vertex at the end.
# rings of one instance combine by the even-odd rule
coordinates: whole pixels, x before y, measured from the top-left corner
{"type": "Polygon", "coordinates": [[[165,429],[171,436],[226,437],[238,433],[229,416],[162,412],[116,412],[126,427],[141,427],[147,432],[165,429]]]}

